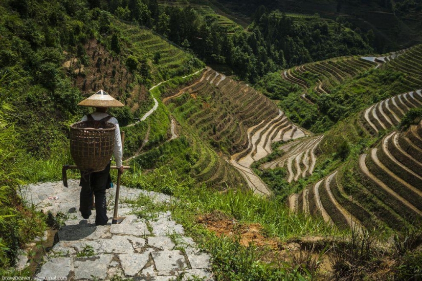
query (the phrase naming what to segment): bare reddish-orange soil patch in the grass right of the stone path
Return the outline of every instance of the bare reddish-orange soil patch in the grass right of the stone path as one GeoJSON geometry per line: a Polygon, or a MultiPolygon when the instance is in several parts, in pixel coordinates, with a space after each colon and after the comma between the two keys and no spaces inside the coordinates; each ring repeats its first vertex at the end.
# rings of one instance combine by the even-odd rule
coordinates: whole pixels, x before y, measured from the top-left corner
{"type": "Polygon", "coordinates": [[[233,218],[227,217],[220,212],[213,212],[198,218],[198,223],[206,225],[206,227],[215,232],[217,236],[233,237],[240,236],[240,244],[248,246],[254,243],[256,246],[269,246],[273,249],[279,248],[277,239],[270,239],[262,234],[260,224],[239,223],[233,218]]]}

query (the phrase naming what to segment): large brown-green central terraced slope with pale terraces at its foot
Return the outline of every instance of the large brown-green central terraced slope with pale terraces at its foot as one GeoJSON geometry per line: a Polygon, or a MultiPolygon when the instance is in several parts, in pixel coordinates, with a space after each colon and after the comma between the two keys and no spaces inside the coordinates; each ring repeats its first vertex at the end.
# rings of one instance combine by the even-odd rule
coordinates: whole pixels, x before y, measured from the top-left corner
{"type": "MultiPolygon", "coordinates": [[[[211,68],[197,82],[164,98],[163,102],[179,122],[197,132],[199,139],[210,143],[223,158],[230,159],[248,186],[261,194],[270,191],[253,173],[251,164],[272,153],[273,142],[308,135],[288,121],[271,100],[211,68]]],[[[204,161],[209,166],[217,162],[204,161]]],[[[205,168],[196,166],[201,167],[198,171],[205,168]]]]}

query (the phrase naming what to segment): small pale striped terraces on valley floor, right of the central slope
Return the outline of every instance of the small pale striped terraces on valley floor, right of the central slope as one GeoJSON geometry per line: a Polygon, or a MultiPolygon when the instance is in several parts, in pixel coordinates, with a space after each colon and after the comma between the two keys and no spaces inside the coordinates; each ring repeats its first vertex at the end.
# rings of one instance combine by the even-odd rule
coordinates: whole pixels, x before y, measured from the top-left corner
{"type": "MultiPolygon", "coordinates": [[[[288,135],[288,133],[286,133],[288,135]]],[[[284,155],[273,161],[261,165],[264,169],[285,167],[288,172],[287,181],[298,181],[308,175],[312,175],[317,157],[315,150],[321,142],[323,135],[289,142],[278,147],[284,155]]]]}

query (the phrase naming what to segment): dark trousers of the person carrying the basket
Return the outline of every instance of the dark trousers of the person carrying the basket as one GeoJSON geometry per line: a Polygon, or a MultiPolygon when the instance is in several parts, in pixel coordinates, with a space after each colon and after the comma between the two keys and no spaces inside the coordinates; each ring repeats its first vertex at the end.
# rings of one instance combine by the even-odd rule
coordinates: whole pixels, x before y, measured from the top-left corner
{"type": "Polygon", "coordinates": [[[107,203],[105,199],[105,189],[110,174],[110,163],[104,170],[86,174],[81,171],[81,195],[79,201],[79,211],[84,219],[88,219],[92,214],[92,199],[95,196],[95,224],[106,225],[107,203]]]}

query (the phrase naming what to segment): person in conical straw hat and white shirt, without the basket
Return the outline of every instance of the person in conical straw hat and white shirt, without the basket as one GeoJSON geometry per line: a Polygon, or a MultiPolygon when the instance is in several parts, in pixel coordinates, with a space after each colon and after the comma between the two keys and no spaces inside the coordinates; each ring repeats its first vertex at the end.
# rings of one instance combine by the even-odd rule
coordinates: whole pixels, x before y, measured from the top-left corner
{"type": "MultiPolygon", "coordinates": [[[[100,90],[91,97],[78,103],[78,105],[95,107],[94,113],[83,116],[81,120],[87,121],[88,127],[101,128],[105,125],[105,122],[110,122],[116,125],[113,154],[116,160],[116,166],[118,167],[118,172],[123,174],[123,147],[119,122],[116,118],[110,116],[106,112],[108,107],[121,107],[124,106],[124,104],[108,95],[103,90],[100,90]]],[[[109,188],[111,184],[110,163],[111,162],[109,162],[102,171],[90,173],[81,171],[79,211],[84,219],[90,218],[92,214],[91,209],[94,205],[93,196],[95,196],[96,225],[106,225],[108,221],[105,189],[109,188]]]]}

